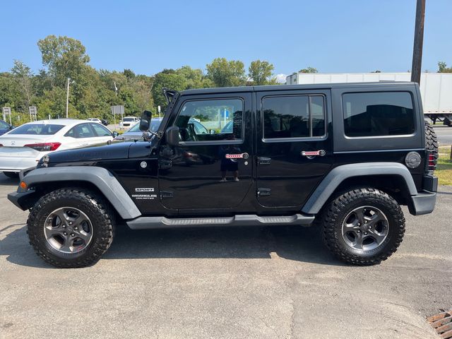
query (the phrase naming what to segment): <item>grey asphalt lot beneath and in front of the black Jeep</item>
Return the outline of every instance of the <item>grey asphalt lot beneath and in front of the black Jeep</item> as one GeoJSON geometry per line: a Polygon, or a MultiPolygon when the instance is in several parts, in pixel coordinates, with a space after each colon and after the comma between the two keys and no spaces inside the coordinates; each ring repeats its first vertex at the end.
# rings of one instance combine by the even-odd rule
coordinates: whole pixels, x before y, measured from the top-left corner
{"type": "Polygon", "coordinates": [[[316,229],[119,230],[95,266],[52,268],[0,174],[0,338],[437,338],[452,308],[452,188],[394,256],[345,266],[316,229]]]}

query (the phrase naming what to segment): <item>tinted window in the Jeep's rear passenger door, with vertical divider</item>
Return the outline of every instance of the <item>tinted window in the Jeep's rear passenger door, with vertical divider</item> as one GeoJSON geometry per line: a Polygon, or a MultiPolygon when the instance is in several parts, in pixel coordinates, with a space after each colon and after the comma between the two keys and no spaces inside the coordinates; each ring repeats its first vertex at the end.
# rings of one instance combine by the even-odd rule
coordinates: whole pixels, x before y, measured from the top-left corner
{"type": "Polygon", "coordinates": [[[306,138],[325,135],[322,95],[264,97],[263,138],[306,138]]]}

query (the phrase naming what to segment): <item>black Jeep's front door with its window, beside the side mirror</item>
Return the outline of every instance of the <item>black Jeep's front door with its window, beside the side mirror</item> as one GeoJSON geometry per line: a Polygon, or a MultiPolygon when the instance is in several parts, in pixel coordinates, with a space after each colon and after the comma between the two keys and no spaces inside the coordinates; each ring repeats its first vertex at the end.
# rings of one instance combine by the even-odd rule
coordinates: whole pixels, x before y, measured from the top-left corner
{"type": "Polygon", "coordinates": [[[181,141],[159,147],[160,199],[166,208],[227,209],[251,186],[251,93],[183,95],[169,126],[181,141]]]}

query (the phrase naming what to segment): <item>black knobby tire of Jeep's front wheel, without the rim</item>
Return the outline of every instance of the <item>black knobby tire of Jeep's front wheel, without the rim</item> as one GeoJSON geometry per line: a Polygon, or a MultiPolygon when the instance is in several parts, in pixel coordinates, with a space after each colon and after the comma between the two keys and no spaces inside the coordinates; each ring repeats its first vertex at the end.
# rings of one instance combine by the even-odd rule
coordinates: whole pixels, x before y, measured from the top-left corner
{"type": "Polygon", "coordinates": [[[27,220],[30,244],[44,261],[59,268],[81,268],[96,263],[112,244],[114,213],[109,203],[93,192],[65,188],[42,196],[30,210],[27,220]],[[52,211],[61,207],[78,208],[93,224],[93,238],[88,246],[75,254],[65,254],[50,246],[44,236],[44,222],[52,211]]]}

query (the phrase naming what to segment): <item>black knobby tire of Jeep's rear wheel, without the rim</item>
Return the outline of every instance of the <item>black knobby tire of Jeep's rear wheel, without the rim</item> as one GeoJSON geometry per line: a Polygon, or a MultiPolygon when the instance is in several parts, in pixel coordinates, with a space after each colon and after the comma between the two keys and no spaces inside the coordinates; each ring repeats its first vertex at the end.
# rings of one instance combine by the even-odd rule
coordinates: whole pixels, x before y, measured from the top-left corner
{"type": "Polygon", "coordinates": [[[323,242],[341,261],[354,265],[375,265],[393,254],[403,240],[405,218],[397,201],[383,191],[371,188],[353,189],[329,202],[321,214],[323,242]],[[343,238],[343,222],[360,206],[379,208],[388,219],[388,235],[376,249],[357,251],[343,238]]]}

